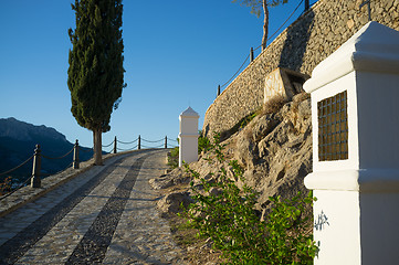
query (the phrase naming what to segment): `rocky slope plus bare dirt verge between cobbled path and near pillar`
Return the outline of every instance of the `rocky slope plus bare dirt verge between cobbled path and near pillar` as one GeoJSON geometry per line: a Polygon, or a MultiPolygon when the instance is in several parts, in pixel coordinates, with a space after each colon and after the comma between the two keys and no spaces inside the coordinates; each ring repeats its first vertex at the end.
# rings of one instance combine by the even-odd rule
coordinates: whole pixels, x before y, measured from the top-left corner
{"type": "MultiPolygon", "coordinates": [[[[292,198],[297,191],[303,191],[303,194],[308,192],[304,187],[304,177],[312,171],[311,98],[307,94],[300,94],[290,103],[276,100],[253,116],[250,115],[235,126],[238,131],[223,134],[223,137],[228,137],[221,142],[227,158],[223,165],[218,165],[217,159],[211,159],[209,163],[206,160],[209,153],[201,153],[199,161],[190,163],[190,168],[199,172],[200,178],[213,182],[221,167],[227,169],[228,177],[232,179],[232,167],[228,161],[238,160],[244,169],[245,182],[259,192],[255,206],[260,219],[267,219],[272,206],[269,197],[292,198]]],[[[186,227],[185,221],[176,216],[181,211],[181,204],[187,206],[192,202],[191,181],[197,190],[201,189],[199,180],[177,168],[151,179],[150,184],[164,194],[158,201],[158,209],[169,221],[175,240],[187,247],[189,262],[222,264],[225,261],[220,258],[219,251],[211,248],[211,242],[195,240],[198,231],[181,229],[186,227]]],[[[237,183],[243,184],[239,180],[237,183]]],[[[306,206],[305,215],[312,216],[309,205],[306,206]]],[[[312,224],[308,227],[312,230],[312,224]]]]}

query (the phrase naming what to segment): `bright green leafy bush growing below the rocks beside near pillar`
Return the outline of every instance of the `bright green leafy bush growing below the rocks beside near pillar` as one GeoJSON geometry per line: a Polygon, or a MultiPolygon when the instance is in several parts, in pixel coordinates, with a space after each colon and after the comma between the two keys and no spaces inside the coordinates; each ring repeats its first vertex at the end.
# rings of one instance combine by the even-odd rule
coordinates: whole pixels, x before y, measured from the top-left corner
{"type": "MultiPolygon", "coordinates": [[[[211,144],[210,163],[225,161],[220,136],[211,144]]],[[[312,264],[317,247],[309,230],[312,222],[305,216],[306,204],[313,197],[300,193],[291,200],[282,201],[271,197],[274,208],[265,221],[254,211],[258,193],[244,184],[239,188],[235,180],[243,179],[243,170],[235,160],[229,162],[233,176],[221,167],[218,178],[209,181],[185,165],[186,170],[199,180],[191,182],[196,203],[183,212],[189,224],[198,230],[198,235],[210,237],[213,247],[223,253],[229,264],[312,264]]],[[[213,174],[213,177],[216,177],[213,174]]]]}

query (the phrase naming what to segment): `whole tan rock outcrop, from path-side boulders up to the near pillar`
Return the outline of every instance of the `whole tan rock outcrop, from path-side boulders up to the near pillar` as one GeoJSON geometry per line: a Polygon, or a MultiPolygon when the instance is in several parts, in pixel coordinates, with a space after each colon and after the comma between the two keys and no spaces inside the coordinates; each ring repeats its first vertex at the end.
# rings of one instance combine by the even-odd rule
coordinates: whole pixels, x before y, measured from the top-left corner
{"type": "MultiPolygon", "coordinates": [[[[300,94],[275,113],[259,113],[222,144],[225,146],[227,160],[238,160],[244,169],[244,181],[259,192],[258,210],[261,210],[267,208],[271,195],[290,198],[297,191],[307,192],[303,180],[312,171],[311,99],[307,94],[300,94]]],[[[228,176],[233,176],[228,161],[223,165],[209,163],[204,157],[207,155],[202,155],[198,162],[190,163],[190,168],[201,178],[212,181],[218,178],[217,172],[222,166],[228,176]]],[[[159,209],[178,212],[177,205],[186,204],[189,200],[188,183],[191,180],[199,184],[181,168],[153,179],[153,188],[170,190],[159,201],[159,209]]],[[[240,180],[238,183],[242,186],[240,180]]]]}

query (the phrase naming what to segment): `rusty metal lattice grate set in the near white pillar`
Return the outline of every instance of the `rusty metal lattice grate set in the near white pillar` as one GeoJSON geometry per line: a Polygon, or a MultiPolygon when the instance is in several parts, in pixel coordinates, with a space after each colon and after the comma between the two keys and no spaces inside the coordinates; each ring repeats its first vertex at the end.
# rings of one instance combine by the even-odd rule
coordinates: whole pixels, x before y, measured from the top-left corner
{"type": "Polygon", "coordinates": [[[318,160],[348,159],[346,91],[317,103],[318,160]]]}

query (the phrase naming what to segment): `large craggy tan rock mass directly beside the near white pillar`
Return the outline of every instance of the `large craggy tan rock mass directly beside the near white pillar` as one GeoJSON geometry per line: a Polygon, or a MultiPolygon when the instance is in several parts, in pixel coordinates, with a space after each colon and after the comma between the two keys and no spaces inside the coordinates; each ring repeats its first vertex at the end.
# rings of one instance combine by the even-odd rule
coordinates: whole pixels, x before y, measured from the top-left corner
{"type": "Polygon", "coordinates": [[[298,99],[287,103],[276,115],[254,119],[255,124],[238,136],[234,158],[246,169],[248,184],[260,192],[260,206],[271,195],[288,198],[306,190],[303,179],[312,171],[311,112],[309,99],[298,99]],[[258,137],[262,135],[259,128],[267,126],[271,131],[258,137]]]}

